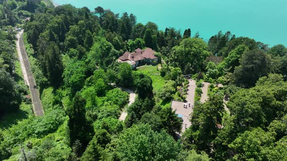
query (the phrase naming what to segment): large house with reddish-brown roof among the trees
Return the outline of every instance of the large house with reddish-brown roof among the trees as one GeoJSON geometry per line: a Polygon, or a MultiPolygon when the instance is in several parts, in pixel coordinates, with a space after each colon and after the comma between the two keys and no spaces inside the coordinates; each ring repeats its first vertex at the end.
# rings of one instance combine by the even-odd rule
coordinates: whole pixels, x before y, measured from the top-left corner
{"type": "Polygon", "coordinates": [[[143,64],[157,64],[158,57],[154,55],[155,53],[156,51],[151,48],[137,48],[131,53],[126,51],[124,55],[118,59],[118,62],[128,63],[133,69],[143,64]]]}

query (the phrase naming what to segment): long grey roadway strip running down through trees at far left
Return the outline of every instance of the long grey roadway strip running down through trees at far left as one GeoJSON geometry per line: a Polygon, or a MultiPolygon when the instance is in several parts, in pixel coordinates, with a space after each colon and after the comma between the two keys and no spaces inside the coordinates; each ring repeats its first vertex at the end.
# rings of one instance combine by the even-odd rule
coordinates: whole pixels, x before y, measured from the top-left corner
{"type": "Polygon", "coordinates": [[[32,103],[33,103],[33,113],[35,116],[42,116],[44,115],[44,110],[41,104],[36,82],[31,71],[31,65],[28,60],[28,55],[26,53],[26,49],[25,49],[25,45],[23,41],[23,32],[20,32],[20,35],[18,35],[18,38],[19,38],[18,41],[19,41],[20,53],[23,59],[21,63],[23,63],[23,66],[25,66],[25,69],[22,69],[22,70],[25,70],[27,74],[26,81],[29,82],[28,84],[29,84],[29,89],[31,93],[32,103]]]}

